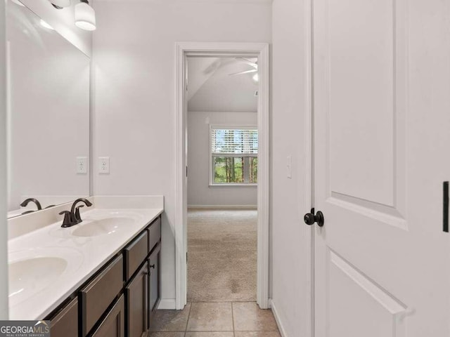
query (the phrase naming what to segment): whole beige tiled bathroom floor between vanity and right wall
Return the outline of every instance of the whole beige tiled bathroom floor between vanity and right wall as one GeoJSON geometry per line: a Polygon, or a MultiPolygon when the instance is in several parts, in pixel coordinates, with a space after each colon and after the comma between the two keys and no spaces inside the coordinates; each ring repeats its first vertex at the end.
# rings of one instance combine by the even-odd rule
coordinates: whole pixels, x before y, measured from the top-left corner
{"type": "Polygon", "coordinates": [[[158,310],[150,337],[281,337],[271,310],[255,302],[188,303],[158,310]]]}

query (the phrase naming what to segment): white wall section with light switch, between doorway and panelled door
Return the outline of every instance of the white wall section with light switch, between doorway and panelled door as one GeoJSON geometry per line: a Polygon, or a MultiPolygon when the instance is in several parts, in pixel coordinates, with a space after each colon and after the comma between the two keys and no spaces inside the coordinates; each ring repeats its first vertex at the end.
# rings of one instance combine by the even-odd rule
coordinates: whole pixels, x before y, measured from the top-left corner
{"type": "Polygon", "coordinates": [[[273,303],[285,337],[309,336],[309,211],[305,174],[305,6],[309,0],[274,0],[272,16],[272,248],[273,303]],[[292,179],[286,158],[292,156],[292,179]]]}

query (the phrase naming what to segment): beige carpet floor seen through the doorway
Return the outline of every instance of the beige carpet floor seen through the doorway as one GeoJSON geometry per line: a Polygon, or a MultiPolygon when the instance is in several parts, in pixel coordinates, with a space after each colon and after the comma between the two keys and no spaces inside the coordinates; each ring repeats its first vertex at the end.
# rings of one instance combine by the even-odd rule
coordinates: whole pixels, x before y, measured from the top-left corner
{"type": "Polygon", "coordinates": [[[257,211],[188,211],[188,302],[256,300],[257,211]]]}

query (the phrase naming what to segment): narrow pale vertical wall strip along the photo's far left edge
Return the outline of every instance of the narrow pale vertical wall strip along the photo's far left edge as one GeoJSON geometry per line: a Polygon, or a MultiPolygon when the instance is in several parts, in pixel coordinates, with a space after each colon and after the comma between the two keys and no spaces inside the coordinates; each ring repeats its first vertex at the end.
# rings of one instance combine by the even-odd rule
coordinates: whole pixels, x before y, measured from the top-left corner
{"type": "Polygon", "coordinates": [[[6,33],[0,1],[0,319],[8,319],[8,227],[6,226],[6,33]]]}

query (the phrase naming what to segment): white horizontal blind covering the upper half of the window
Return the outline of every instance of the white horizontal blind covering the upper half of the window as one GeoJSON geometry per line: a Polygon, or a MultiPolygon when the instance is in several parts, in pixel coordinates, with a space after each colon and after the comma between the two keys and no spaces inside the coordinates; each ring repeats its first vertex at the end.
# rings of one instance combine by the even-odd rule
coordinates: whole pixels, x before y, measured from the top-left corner
{"type": "Polygon", "coordinates": [[[255,127],[212,127],[212,154],[257,154],[258,131],[255,127]]]}

